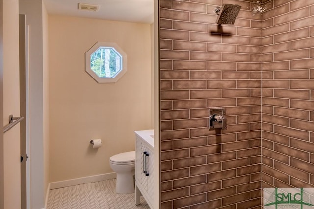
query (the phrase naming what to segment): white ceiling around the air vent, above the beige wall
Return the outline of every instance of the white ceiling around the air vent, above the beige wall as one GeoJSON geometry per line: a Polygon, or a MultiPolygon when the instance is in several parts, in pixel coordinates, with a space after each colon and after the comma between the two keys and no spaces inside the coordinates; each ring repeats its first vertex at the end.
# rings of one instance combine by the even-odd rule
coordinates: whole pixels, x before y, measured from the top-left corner
{"type": "Polygon", "coordinates": [[[154,0],[44,0],[48,14],[134,23],[153,23],[154,0]],[[99,11],[78,10],[78,3],[100,5],[99,11]]]}

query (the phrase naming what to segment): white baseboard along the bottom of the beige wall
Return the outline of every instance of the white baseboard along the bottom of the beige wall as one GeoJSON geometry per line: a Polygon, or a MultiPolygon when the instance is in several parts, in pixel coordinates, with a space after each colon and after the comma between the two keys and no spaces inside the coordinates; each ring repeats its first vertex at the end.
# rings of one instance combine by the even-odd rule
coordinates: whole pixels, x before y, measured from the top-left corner
{"type": "MultiPolygon", "coordinates": [[[[117,177],[117,174],[115,172],[113,173],[106,173],[106,174],[100,174],[100,175],[95,175],[95,176],[86,176],[86,177],[81,177],[77,179],[69,179],[69,180],[64,180],[64,181],[59,181],[59,182],[51,182],[49,183],[49,190],[50,189],[57,189],[57,188],[62,188],[66,186],[74,186],[78,184],[83,184],[83,183],[92,183],[92,182],[98,182],[98,181],[104,181],[107,179],[114,179],[117,177]]],[[[48,192],[46,196],[46,203],[48,201],[48,192]]]]}

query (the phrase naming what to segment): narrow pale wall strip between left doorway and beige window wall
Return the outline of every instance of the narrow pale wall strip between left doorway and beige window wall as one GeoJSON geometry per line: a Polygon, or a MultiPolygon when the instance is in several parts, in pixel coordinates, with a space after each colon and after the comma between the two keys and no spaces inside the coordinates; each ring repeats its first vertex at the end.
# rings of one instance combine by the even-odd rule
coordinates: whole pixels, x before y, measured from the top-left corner
{"type": "Polygon", "coordinates": [[[47,12],[43,10],[42,0],[20,0],[19,12],[26,15],[29,24],[31,208],[40,209],[45,207],[49,178],[47,12]]]}

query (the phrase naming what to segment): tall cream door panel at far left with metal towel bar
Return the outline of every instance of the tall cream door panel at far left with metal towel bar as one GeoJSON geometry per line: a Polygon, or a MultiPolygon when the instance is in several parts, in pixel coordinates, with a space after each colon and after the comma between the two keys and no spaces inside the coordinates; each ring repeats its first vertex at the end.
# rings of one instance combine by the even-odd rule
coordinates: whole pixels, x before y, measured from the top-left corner
{"type": "MultiPolygon", "coordinates": [[[[19,85],[19,4],[3,0],[2,27],[2,79],[3,125],[9,115],[20,116],[19,85]]],[[[21,208],[20,124],[3,134],[3,200],[5,209],[21,208]]],[[[2,169],[1,169],[2,170],[2,169]]]]}

